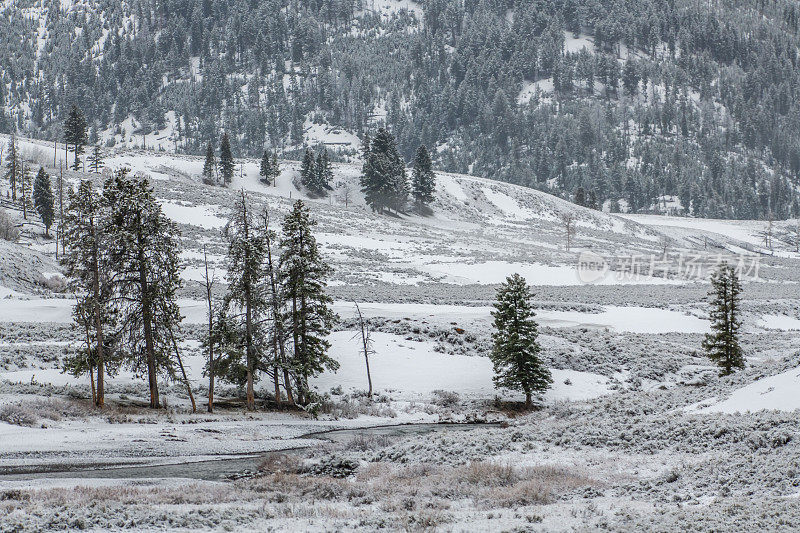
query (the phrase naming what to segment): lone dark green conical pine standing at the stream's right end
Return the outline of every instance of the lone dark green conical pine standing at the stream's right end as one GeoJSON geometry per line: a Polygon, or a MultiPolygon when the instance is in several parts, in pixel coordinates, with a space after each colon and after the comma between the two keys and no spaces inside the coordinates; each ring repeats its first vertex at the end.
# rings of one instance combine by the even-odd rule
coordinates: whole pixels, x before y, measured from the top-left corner
{"type": "Polygon", "coordinates": [[[531,290],[519,274],[506,278],[497,290],[494,317],[494,346],[489,357],[494,366],[496,387],[525,393],[531,407],[533,394],[546,391],[553,379],[539,353],[538,325],[531,306],[531,290]]]}

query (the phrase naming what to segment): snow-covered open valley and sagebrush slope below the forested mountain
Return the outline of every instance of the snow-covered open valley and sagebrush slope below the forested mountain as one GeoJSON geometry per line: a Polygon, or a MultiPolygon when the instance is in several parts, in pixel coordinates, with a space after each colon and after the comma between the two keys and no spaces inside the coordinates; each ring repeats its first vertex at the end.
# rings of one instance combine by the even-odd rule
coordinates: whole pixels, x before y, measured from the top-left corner
{"type": "MultiPolygon", "coordinates": [[[[52,145],[25,139],[20,147],[58,172],[63,147],[54,154],[52,145]]],[[[163,384],[167,409],[143,408],[145,383],[124,370],[108,379],[108,408],[92,409],[88,380],[60,371],[82,341],[71,324],[74,300],[60,292],[54,242],[33,221],[19,243],[0,241],[0,530],[800,527],[795,221],[776,222],[767,248],[762,221],[615,216],[445,173],[437,175],[432,216],[390,217],[366,208],[357,165],[335,165],[334,193],[311,200],[294,185],[296,162],[281,162],[275,187],[258,181],[258,161],[238,163],[223,189],[200,183],[200,158],[118,151],[107,160],[149,176],[179,225],[181,348],[202,414],[190,412],[180,383],[163,384]],[[294,200],[307,199],[335,269],[330,292],[340,320],[330,341],[341,368],[312,383],[327,397],[317,417],[247,413],[240,391],[224,385],[220,408],[203,412],[203,252],[221,286],[221,230],[239,190],[268,209],[276,227],[294,200]],[[576,229],[569,248],[565,215],[576,229]],[[579,266],[586,253],[609,266],[588,284],[579,266]],[[623,259],[711,264],[736,254],[759,266],[743,293],[747,368],[720,378],[701,350],[707,276],[675,265],[626,275],[623,259]],[[494,291],[514,272],[534,285],[554,377],[541,408],[528,414],[507,403],[519,396],[494,388],[487,358],[494,291]],[[372,402],[353,302],[374,331],[372,402]],[[359,429],[436,422],[499,424],[424,434],[359,429]],[[333,441],[310,436],[332,429],[354,432],[333,441]],[[290,448],[303,450],[270,455],[261,474],[235,481],[155,470],[242,457],[256,468],[263,461],[254,457],[290,448]],[[102,469],[124,465],[150,468],[141,472],[152,477],[110,471],[99,479],[102,469]]],[[[269,389],[257,386],[261,400],[269,389]]]]}

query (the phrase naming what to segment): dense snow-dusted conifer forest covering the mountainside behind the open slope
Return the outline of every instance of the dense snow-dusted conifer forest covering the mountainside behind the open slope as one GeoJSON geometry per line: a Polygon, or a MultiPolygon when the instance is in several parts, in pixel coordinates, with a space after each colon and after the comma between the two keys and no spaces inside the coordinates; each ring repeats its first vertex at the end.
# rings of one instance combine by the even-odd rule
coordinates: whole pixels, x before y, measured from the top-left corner
{"type": "Polygon", "coordinates": [[[0,131],[404,159],[611,210],[798,211],[794,0],[6,0],[0,131]],[[594,199],[591,202],[590,199],[594,199]]]}

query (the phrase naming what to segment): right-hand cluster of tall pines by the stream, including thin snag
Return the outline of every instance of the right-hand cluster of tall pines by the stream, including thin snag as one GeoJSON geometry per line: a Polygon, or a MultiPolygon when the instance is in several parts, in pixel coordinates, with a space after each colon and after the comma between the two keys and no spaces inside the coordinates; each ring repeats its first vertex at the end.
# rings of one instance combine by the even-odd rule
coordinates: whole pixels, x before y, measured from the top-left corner
{"type": "MultiPolygon", "coordinates": [[[[248,409],[255,408],[255,383],[267,376],[276,402],[313,402],[309,379],[338,363],[327,351],[334,322],[325,292],[330,266],[320,255],[308,207],[300,200],[284,218],[280,237],[266,209],[257,212],[244,192],[230,222],[228,292],[221,302],[209,293],[209,390],[215,378],[240,385],[248,409]]],[[[210,280],[207,280],[210,283],[210,280]]],[[[213,409],[213,393],[208,409],[213,409]]]]}

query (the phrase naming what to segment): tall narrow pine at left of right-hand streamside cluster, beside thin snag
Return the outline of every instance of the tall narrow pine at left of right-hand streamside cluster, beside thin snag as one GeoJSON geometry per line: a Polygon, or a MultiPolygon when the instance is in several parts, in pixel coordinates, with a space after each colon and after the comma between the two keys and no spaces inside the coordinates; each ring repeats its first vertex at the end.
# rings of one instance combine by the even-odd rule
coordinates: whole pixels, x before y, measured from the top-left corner
{"type": "Polygon", "coordinates": [[[264,267],[267,244],[253,219],[247,196],[241,191],[225,228],[228,237],[228,294],[225,301],[237,313],[231,318],[241,324],[239,329],[243,334],[238,335],[237,343],[242,349],[234,353],[244,355],[244,364],[229,357],[228,379],[236,380],[236,374],[243,375],[247,387],[247,408],[250,410],[255,409],[254,382],[263,356],[264,334],[261,324],[269,312],[264,267]]]}

